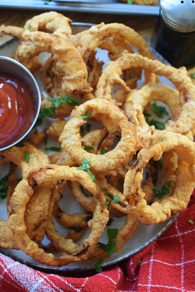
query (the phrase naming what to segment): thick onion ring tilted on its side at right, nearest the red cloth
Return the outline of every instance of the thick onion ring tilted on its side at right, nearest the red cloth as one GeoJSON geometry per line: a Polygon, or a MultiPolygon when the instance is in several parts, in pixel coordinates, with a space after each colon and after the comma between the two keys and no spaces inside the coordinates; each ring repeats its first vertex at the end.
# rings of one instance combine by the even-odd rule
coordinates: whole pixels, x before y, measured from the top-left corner
{"type": "Polygon", "coordinates": [[[194,189],[194,142],[176,133],[165,133],[154,139],[138,154],[138,160],[127,172],[124,183],[124,195],[128,207],[142,223],[156,224],[170,218],[178,211],[186,208],[191,192],[194,189]],[[144,193],[139,187],[143,178],[143,168],[153,157],[160,159],[163,152],[174,149],[178,159],[178,175],[172,196],[166,197],[160,203],[147,205],[144,193]]]}

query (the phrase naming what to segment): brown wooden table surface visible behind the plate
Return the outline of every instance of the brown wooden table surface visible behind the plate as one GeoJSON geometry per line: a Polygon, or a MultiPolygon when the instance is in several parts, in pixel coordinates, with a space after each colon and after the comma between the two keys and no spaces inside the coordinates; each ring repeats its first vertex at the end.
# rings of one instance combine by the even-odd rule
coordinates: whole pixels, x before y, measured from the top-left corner
{"type": "MultiPolygon", "coordinates": [[[[19,9],[1,9],[0,11],[0,25],[16,25],[23,27],[26,20],[32,18],[34,15],[43,13],[44,11],[38,10],[19,10],[19,9]]],[[[96,23],[101,22],[111,23],[118,22],[123,23],[135,31],[137,31],[148,43],[151,44],[152,33],[156,25],[158,17],[156,16],[137,16],[137,15],[115,15],[115,14],[98,14],[98,13],[80,13],[80,12],[62,12],[65,16],[72,19],[74,22],[87,22],[96,23]]],[[[0,37],[0,45],[8,40],[9,36],[0,37]]],[[[188,71],[188,75],[191,78],[192,73],[195,72],[195,68],[188,71]]],[[[193,83],[194,78],[191,78],[193,83]]]]}

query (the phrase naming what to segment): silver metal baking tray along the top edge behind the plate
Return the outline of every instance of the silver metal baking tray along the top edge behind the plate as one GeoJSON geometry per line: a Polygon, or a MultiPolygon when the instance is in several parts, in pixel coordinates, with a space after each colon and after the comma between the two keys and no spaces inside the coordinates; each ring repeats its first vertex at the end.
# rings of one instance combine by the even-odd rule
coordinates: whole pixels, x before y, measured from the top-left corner
{"type": "Polygon", "coordinates": [[[44,11],[75,11],[89,13],[109,13],[123,15],[159,14],[159,3],[156,5],[136,5],[122,3],[118,0],[84,0],[84,1],[49,1],[49,0],[0,0],[0,8],[33,9],[44,11]],[[84,2],[85,1],[85,2],[84,2]],[[88,2],[86,2],[88,1],[88,2]],[[92,2],[93,1],[93,2],[92,2]],[[106,3],[103,3],[106,2],[106,3]]]}

